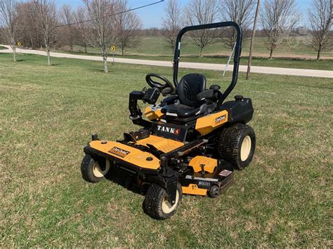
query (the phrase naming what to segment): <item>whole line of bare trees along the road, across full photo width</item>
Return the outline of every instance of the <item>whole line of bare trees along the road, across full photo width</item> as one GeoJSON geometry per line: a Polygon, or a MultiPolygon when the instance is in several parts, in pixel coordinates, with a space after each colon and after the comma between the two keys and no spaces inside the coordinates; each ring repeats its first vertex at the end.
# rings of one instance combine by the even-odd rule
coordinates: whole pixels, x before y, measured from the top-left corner
{"type": "MultiPolygon", "coordinates": [[[[256,6],[260,0],[190,0],[181,7],[180,0],[169,0],[164,6],[163,29],[145,29],[145,34],[165,37],[174,50],[176,35],[187,25],[202,25],[218,21],[234,21],[243,29],[243,37],[251,36],[256,6]]],[[[60,8],[54,0],[0,0],[0,32],[4,41],[13,49],[20,41],[25,47],[45,48],[48,65],[50,50],[67,45],[73,51],[74,44],[99,49],[107,72],[107,55],[114,43],[122,54],[136,36],[143,33],[141,20],[131,11],[127,0],[82,0],[83,5],[73,9],[70,5],[60,8]]],[[[267,37],[270,58],[280,45],[282,37],[291,32],[302,15],[296,0],[263,0],[259,10],[261,33],[267,37]]],[[[332,4],[330,0],[312,0],[306,16],[311,28],[311,48],[320,53],[332,48],[332,4]]],[[[233,48],[235,29],[210,29],[191,32],[190,38],[200,49],[222,40],[233,48]],[[223,38],[221,38],[223,37],[223,38]]],[[[253,41],[253,39],[252,39],[253,41]]]]}

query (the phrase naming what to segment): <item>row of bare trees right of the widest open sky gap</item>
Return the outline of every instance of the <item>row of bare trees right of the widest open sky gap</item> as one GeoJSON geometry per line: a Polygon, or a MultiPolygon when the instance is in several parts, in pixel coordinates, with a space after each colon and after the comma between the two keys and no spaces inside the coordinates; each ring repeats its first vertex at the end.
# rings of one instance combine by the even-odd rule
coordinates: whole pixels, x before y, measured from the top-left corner
{"type": "MultiPolygon", "coordinates": [[[[202,25],[208,22],[233,21],[243,30],[243,39],[249,38],[256,27],[253,27],[258,0],[191,0],[181,8],[181,1],[169,0],[164,8],[164,29],[167,41],[174,48],[176,34],[185,25],[202,25]]],[[[267,37],[270,50],[269,58],[273,58],[273,51],[280,45],[283,36],[290,34],[301,19],[308,20],[311,31],[310,46],[320,53],[332,48],[332,6],[330,0],[312,0],[305,15],[299,11],[296,0],[263,0],[259,10],[259,24],[261,36],[267,37]]],[[[205,46],[214,43],[217,37],[233,48],[236,40],[235,29],[221,31],[192,32],[192,40],[200,48],[200,56],[205,46]]]]}

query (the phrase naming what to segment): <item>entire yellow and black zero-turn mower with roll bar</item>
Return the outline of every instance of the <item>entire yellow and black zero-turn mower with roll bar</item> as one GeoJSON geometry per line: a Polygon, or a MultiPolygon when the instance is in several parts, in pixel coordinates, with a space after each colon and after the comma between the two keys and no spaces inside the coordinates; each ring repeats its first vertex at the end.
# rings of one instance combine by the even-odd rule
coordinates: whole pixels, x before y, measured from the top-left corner
{"type": "Polygon", "coordinates": [[[145,194],[143,209],[155,219],[174,215],[183,194],[215,198],[230,186],[234,170],[249,165],[256,144],[254,130],[247,126],[254,112],[252,100],[237,95],[224,102],[237,82],[241,48],[242,29],[235,22],[181,29],[174,53],[174,84],[164,76],[147,74],[150,88],[129,94],[129,118],[142,128],[124,133],[118,141],[100,140],[94,133],[84,147],[84,180],[99,182],[117,168],[126,184],[145,194]],[[224,92],[218,85],[207,89],[202,74],[187,74],[178,81],[183,34],[219,27],[237,31],[230,86],[224,92]],[[157,105],[161,94],[165,98],[157,105]],[[143,119],[138,100],[150,105],[144,112],[149,121],[143,119]]]}

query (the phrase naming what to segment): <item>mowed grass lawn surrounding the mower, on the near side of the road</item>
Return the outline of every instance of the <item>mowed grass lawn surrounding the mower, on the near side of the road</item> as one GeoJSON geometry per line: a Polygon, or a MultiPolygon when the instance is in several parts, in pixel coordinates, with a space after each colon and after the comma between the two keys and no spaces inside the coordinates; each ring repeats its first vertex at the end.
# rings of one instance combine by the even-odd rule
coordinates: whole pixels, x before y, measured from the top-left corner
{"type": "Polygon", "coordinates": [[[1,247],[332,247],[332,79],[240,74],[232,95],[252,97],[254,161],[218,198],[183,196],[176,215],[156,221],[144,196],[86,183],[79,167],[91,133],[117,140],[138,128],[129,92],[171,69],[52,63],[0,54],[1,247]]]}

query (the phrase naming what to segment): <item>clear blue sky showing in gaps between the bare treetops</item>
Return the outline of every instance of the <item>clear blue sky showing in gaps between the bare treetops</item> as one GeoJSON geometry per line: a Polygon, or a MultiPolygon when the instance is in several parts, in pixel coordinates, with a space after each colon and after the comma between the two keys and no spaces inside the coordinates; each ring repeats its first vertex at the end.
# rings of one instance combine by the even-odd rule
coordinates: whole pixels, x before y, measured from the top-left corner
{"type": "MultiPolygon", "coordinates": [[[[129,6],[131,8],[136,8],[138,6],[154,3],[155,1],[159,0],[129,0],[129,6]]],[[[162,27],[162,17],[164,14],[164,6],[166,1],[167,0],[162,3],[148,6],[147,8],[141,8],[136,11],[142,20],[143,28],[162,27]]],[[[180,0],[181,6],[185,6],[188,1],[189,0],[180,0]]],[[[62,4],[70,4],[74,8],[82,4],[81,0],[55,0],[55,2],[58,4],[58,6],[61,6],[62,4]]],[[[307,8],[311,5],[311,0],[296,0],[296,2],[301,13],[306,13],[307,8]]],[[[306,20],[302,20],[300,25],[306,25],[306,20]]]]}

